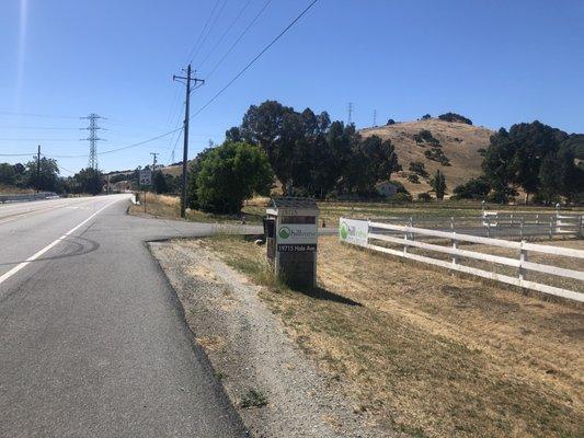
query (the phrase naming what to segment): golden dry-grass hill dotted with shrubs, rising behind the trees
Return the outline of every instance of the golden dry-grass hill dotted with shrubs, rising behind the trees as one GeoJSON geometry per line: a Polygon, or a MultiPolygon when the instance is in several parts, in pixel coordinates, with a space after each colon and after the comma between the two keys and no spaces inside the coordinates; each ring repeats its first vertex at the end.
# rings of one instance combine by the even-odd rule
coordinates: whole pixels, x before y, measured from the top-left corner
{"type": "Polygon", "coordinates": [[[389,138],[391,140],[391,143],[396,148],[399,162],[403,168],[403,172],[400,172],[398,175],[392,175],[391,178],[403,183],[405,188],[412,194],[427,192],[431,187],[423,177],[420,177],[420,184],[408,181],[408,175],[412,173],[408,171],[411,161],[424,163],[430,175],[433,175],[436,169],[443,171],[446,175],[446,184],[448,185],[447,192],[451,194],[454,187],[481,174],[482,157],[479,154],[479,149],[486,149],[489,147],[489,138],[494,132],[479,126],[430,118],[426,120],[403,122],[396,123],[394,125],[366,128],[362,129],[360,134],[365,137],[377,135],[383,139],[389,138]],[[420,138],[421,131],[424,130],[432,134],[430,137],[431,141],[423,140],[424,135],[420,138]],[[439,142],[439,148],[433,148],[432,138],[439,142]],[[442,165],[426,158],[424,152],[428,151],[426,153],[430,154],[432,149],[442,149],[444,155],[449,160],[450,165],[442,165]]]}

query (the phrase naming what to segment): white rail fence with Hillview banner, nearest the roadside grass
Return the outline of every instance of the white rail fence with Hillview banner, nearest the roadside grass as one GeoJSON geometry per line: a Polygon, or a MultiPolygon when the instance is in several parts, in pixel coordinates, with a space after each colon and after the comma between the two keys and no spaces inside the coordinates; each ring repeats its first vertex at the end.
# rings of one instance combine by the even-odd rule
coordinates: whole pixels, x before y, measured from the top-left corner
{"type": "MultiPolygon", "coordinates": [[[[536,243],[513,242],[503,239],[484,238],[471,234],[461,234],[458,232],[448,232],[439,230],[431,230],[424,228],[415,228],[409,226],[398,226],[391,223],[373,222],[369,220],[355,219],[340,219],[340,240],[350,244],[356,244],[367,247],[369,250],[378,251],[386,254],[396,255],[403,258],[413,260],[416,262],[428,263],[431,265],[445,267],[448,269],[471,274],[492,280],[503,281],[513,286],[518,286],[526,289],[537,290],[543,293],[550,293],[558,297],[569,298],[572,300],[584,302],[584,293],[545,285],[537,281],[526,279],[528,270],[548,274],[551,276],[559,276],[563,278],[575,279],[584,281],[584,272],[552,266],[540,263],[533,263],[528,261],[528,252],[536,252],[542,254],[551,254],[564,257],[573,257],[584,260],[584,251],[573,250],[568,247],[549,246],[536,243]],[[358,235],[357,235],[358,233],[358,235]],[[451,245],[445,246],[430,242],[417,241],[416,237],[427,237],[433,239],[447,239],[451,245]],[[381,246],[380,242],[387,242],[402,246],[400,250],[394,250],[381,246]],[[461,242],[479,243],[490,246],[499,246],[517,251],[517,258],[504,257],[500,255],[485,254],[476,251],[462,250],[458,245],[461,242]],[[450,261],[428,257],[426,255],[413,254],[408,250],[410,247],[417,247],[425,251],[438,252],[449,254],[450,261]],[[491,270],[480,269],[471,266],[466,266],[460,263],[459,257],[471,258],[476,261],[483,261],[500,264],[503,266],[511,266],[517,268],[517,276],[503,275],[491,270]]],[[[584,262],[583,262],[584,266],[584,262]]]]}

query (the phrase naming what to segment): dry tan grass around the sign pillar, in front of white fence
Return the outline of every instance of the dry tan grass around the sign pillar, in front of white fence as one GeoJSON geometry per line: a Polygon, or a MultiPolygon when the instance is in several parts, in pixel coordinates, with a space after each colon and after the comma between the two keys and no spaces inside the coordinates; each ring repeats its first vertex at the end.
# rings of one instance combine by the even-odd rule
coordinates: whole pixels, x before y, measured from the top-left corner
{"type": "MultiPolygon", "coordinates": [[[[208,245],[241,268],[265,247],[208,245]]],[[[243,269],[245,272],[245,269],[243,269]]],[[[248,270],[253,278],[253,269],[248,270]]],[[[320,239],[314,293],[262,292],[358,411],[420,437],[584,435],[582,307],[320,239]]]]}

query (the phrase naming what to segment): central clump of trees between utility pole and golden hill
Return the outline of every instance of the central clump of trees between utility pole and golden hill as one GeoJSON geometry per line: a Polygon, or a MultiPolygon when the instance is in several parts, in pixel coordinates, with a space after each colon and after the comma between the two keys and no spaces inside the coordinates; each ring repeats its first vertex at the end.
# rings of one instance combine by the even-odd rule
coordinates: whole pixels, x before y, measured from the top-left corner
{"type": "MultiPolygon", "coordinates": [[[[237,200],[224,205],[218,195],[237,192],[240,180],[228,174],[228,166],[219,162],[229,161],[236,166],[233,173],[238,173],[241,154],[245,157],[242,160],[252,160],[259,166],[255,175],[259,182],[268,181],[268,171],[273,172],[282,192],[294,196],[376,196],[376,183],[389,181],[393,172],[401,170],[390,140],[378,136],[364,138],[355,125],[331,122],[325,112],[314,114],[310,108],[297,112],[279,102],[266,101],[250,106],[241,125],[227,130],[224,145],[207,148],[193,161],[188,191],[193,207],[236,210],[237,200]],[[209,175],[219,172],[230,183],[225,191],[210,189],[220,182],[211,181],[209,175]],[[218,198],[209,204],[209,196],[214,195],[218,198]]],[[[247,165],[241,169],[245,176],[255,172],[252,164],[247,165]]],[[[265,192],[263,185],[260,188],[265,192]]]]}

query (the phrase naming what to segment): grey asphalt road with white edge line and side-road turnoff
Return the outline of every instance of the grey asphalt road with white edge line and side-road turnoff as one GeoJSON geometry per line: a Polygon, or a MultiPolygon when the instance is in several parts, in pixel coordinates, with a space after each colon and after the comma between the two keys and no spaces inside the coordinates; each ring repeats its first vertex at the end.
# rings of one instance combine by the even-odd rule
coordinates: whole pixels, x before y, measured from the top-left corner
{"type": "Polygon", "coordinates": [[[0,206],[1,437],[242,437],[128,195],[0,206]]]}

